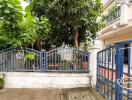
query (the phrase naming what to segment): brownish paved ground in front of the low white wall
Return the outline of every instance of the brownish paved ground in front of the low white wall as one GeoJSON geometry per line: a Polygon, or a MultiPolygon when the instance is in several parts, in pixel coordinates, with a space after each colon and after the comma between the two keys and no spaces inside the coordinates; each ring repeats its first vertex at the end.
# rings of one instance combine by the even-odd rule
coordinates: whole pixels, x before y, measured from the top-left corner
{"type": "Polygon", "coordinates": [[[79,89],[3,89],[0,100],[103,100],[95,91],[88,88],[79,89]]]}

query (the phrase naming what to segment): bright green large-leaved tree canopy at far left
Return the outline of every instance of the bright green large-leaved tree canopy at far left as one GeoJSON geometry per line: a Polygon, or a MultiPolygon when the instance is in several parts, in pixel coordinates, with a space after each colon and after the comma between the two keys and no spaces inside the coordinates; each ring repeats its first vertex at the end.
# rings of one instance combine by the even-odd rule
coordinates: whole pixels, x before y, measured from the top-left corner
{"type": "Polygon", "coordinates": [[[9,44],[20,46],[34,42],[35,19],[30,11],[24,10],[19,0],[0,0],[0,33],[8,37],[9,44]]]}

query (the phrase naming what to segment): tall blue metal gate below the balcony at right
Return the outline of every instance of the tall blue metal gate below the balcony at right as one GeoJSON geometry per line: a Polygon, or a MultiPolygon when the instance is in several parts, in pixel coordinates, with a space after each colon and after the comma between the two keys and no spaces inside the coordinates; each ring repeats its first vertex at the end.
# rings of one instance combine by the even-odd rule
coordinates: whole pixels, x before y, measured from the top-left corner
{"type": "Polygon", "coordinates": [[[132,100],[132,41],[98,52],[96,89],[106,100],[132,100]]]}

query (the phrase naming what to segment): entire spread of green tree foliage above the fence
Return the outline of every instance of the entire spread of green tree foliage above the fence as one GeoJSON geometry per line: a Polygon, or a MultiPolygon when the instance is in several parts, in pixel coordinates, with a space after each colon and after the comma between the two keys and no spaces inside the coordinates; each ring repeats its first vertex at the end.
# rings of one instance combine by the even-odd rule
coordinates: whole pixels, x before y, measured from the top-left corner
{"type": "Polygon", "coordinates": [[[39,38],[47,48],[73,45],[75,30],[82,43],[95,37],[99,12],[100,0],[31,0],[25,9],[20,0],[0,0],[0,44],[28,46],[39,38]]]}

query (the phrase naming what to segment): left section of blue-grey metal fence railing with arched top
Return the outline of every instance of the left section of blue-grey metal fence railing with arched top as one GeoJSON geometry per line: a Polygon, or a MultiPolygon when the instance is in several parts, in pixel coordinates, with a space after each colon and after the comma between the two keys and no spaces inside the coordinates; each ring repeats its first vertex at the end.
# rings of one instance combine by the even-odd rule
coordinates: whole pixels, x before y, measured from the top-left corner
{"type": "Polygon", "coordinates": [[[0,71],[41,71],[42,53],[33,49],[0,51],[0,71]]]}

